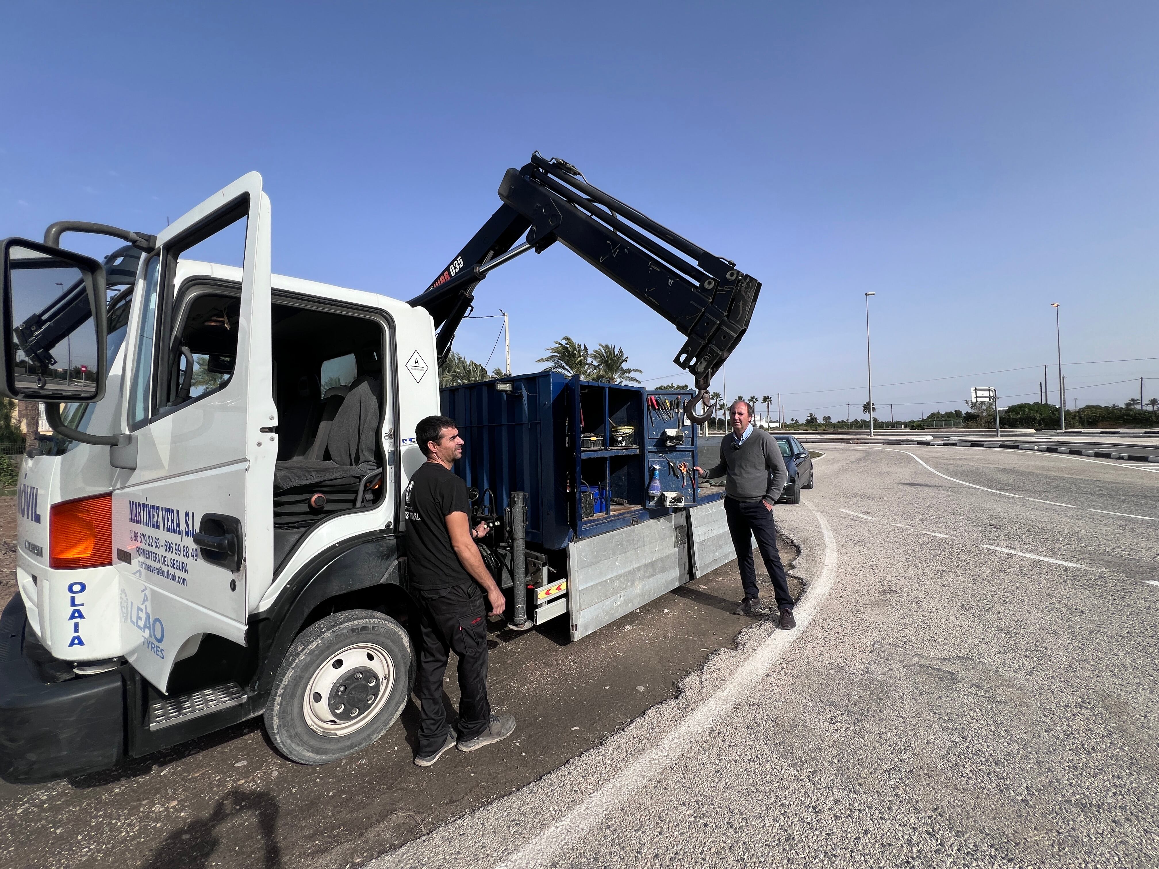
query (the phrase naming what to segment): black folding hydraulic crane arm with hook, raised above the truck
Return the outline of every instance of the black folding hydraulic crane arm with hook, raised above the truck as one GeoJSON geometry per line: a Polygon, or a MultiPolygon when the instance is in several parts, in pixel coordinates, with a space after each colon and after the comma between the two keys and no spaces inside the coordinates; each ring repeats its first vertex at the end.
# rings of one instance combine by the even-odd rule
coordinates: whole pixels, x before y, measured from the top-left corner
{"type": "Polygon", "coordinates": [[[471,309],[475,285],[504,262],[559,241],[687,338],[673,362],[693,375],[699,390],[688,417],[707,419],[708,385],[749,328],[760,282],[592,187],[570,163],[539,152],[522,169],[508,169],[498,195],[498,211],[410,300],[435,319],[439,362],[471,309]],[[512,249],[524,232],[524,243],[512,249]],[[702,414],[693,412],[698,402],[702,414]]]}

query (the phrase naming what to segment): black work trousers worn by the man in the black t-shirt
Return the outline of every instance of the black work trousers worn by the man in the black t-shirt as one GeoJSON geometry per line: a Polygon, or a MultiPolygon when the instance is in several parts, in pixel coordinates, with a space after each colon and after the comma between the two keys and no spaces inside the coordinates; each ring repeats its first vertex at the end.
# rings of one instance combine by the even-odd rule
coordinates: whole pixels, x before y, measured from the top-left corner
{"type": "Polygon", "coordinates": [[[422,706],[417,748],[433,754],[446,743],[450,724],[443,708],[443,677],[450,651],[459,656],[459,739],[473,739],[490,723],[487,699],[487,601],[471,583],[437,591],[415,590],[418,603],[418,674],[422,706]]]}

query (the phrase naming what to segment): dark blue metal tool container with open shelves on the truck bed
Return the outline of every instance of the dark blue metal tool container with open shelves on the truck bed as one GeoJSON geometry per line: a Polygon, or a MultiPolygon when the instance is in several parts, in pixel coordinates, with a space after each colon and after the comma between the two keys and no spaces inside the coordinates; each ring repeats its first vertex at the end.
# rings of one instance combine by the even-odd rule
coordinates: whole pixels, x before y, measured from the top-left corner
{"type": "Polygon", "coordinates": [[[512,491],[526,491],[527,542],[559,550],[672,513],[648,496],[653,465],[661,466],[663,491],[697,503],[695,426],[677,410],[691,395],[539,372],[445,387],[442,409],[465,441],[455,473],[489,492],[500,512],[512,491]],[[649,395],[670,402],[664,416],[673,418],[649,415],[649,395]],[[659,443],[664,429],[683,432],[679,447],[659,443]],[[584,448],[584,434],[595,448],[584,448]],[[624,445],[613,446],[613,437],[624,445]]]}

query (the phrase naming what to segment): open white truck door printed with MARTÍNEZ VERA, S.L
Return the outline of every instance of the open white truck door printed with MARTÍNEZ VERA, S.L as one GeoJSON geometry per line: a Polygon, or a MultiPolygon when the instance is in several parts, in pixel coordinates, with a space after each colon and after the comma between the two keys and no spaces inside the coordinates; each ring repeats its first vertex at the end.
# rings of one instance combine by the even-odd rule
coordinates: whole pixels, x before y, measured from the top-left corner
{"type": "Polygon", "coordinates": [[[136,467],[112,492],[112,546],[125,657],[163,692],[205,635],[246,643],[248,598],[272,578],[278,421],[261,175],[170,224],[143,277],[125,371],[136,467]],[[243,244],[240,269],[190,265],[187,255],[217,258],[227,240],[243,244]]]}

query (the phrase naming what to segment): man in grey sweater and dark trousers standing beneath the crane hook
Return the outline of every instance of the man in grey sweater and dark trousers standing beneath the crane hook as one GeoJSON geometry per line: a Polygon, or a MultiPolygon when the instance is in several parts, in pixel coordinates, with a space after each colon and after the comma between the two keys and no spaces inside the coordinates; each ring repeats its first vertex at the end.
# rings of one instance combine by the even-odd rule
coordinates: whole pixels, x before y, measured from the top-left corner
{"type": "Polygon", "coordinates": [[[697,472],[708,479],[728,475],[724,482],[724,516],[736,548],[744,600],[737,607],[743,615],[760,615],[768,611],[760,603],[757,589],[757,568],[752,561],[752,538],[757,538],[760,557],[773,580],[779,625],[782,630],[796,627],[793,618],[793,596],[789,594],[785,565],[777,550],[777,526],[773,524],[773,504],[785,489],[788,472],[777,438],[752,425],[752,408],[737,400],[729,407],[732,431],[721,440],[720,463],[707,472],[697,472]]]}

